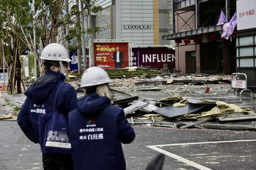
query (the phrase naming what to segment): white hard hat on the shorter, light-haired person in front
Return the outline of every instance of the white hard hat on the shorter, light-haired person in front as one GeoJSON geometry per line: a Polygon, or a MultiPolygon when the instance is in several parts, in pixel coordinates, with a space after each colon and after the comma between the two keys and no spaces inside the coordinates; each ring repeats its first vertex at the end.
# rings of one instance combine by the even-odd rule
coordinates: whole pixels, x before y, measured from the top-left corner
{"type": "Polygon", "coordinates": [[[97,86],[112,82],[106,71],[101,67],[90,67],[86,69],[81,78],[81,87],[97,86]]]}

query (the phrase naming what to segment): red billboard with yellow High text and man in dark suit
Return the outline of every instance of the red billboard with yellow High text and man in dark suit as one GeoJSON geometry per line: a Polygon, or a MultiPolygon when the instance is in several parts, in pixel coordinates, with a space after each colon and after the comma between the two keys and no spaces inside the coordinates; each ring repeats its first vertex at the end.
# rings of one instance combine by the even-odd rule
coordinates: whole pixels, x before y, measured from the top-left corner
{"type": "Polygon", "coordinates": [[[129,42],[94,42],[95,66],[125,68],[129,66],[129,42]]]}

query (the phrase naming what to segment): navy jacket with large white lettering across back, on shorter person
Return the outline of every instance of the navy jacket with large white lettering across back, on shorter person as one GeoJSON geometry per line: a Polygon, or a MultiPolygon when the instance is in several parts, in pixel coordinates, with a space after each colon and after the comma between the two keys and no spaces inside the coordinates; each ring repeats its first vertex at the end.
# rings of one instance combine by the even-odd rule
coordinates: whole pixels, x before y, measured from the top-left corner
{"type": "Polygon", "coordinates": [[[132,142],[135,132],[124,110],[96,93],[78,99],[76,107],[68,116],[74,169],[125,169],[121,142],[132,142]]]}

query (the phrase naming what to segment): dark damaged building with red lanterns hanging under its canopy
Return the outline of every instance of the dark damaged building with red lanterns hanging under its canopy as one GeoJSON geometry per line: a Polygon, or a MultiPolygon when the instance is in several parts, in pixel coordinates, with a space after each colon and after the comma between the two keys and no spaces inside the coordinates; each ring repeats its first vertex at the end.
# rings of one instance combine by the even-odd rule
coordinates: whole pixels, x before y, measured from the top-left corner
{"type": "Polygon", "coordinates": [[[222,38],[223,24],[236,11],[230,0],[173,0],[173,33],[163,35],[175,40],[176,68],[183,73],[235,72],[235,35],[222,38]],[[226,19],[218,24],[221,13],[226,19]]]}

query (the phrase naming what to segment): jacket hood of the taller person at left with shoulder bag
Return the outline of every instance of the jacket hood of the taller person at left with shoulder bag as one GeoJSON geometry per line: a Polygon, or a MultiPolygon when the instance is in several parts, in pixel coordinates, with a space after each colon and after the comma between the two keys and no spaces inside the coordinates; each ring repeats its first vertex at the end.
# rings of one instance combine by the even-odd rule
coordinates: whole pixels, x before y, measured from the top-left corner
{"type": "Polygon", "coordinates": [[[59,81],[64,79],[65,76],[59,71],[45,70],[45,75],[31,84],[25,95],[30,97],[34,104],[42,105],[59,81]]]}

